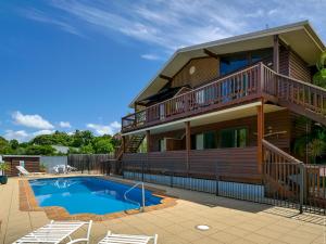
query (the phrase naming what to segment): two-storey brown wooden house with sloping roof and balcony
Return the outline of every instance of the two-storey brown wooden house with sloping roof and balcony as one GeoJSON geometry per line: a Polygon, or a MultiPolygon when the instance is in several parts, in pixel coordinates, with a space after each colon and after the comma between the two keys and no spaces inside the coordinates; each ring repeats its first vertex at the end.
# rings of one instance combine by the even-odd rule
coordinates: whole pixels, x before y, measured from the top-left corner
{"type": "Polygon", "coordinates": [[[326,125],[323,51],[309,22],[177,50],[122,118],[123,170],[259,182],[266,157],[297,160],[298,118],[326,125]]]}

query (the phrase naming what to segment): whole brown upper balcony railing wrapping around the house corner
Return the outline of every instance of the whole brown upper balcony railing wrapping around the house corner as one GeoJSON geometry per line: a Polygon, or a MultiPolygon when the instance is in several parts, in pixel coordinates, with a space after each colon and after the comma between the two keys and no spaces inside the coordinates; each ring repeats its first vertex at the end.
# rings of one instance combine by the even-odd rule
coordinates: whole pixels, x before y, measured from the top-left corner
{"type": "Polygon", "coordinates": [[[277,74],[259,63],[123,117],[122,132],[224,110],[261,98],[326,125],[326,89],[277,74]]]}

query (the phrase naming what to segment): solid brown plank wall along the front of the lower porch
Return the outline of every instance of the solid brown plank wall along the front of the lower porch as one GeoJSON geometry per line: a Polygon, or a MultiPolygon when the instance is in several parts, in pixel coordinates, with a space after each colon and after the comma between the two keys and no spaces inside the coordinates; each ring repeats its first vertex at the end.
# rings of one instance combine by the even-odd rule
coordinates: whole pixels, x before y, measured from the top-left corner
{"type": "Polygon", "coordinates": [[[123,155],[123,170],[156,175],[225,178],[234,181],[259,182],[256,146],[243,149],[151,152],[123,155]]]}

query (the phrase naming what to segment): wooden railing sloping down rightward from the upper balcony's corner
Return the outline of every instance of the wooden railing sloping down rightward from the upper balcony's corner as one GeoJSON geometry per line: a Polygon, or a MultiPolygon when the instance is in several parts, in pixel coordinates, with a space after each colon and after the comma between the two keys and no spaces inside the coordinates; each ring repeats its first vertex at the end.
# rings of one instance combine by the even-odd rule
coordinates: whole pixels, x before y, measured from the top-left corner
{"type": "Polygon", "coordinates": [[[262,75],[267,100],[326,126],[326,89],[275,73],[265,65],[262,75]]]}

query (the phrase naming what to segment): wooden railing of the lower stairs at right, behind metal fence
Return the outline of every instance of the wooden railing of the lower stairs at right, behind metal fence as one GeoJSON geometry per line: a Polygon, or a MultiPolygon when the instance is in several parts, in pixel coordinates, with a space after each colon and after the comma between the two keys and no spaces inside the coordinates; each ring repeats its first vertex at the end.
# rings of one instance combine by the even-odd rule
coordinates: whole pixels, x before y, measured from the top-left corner
{"type": "Polygon", "coordinates": [[[263,140],[266,194],[300,203],[300,209],[326,214],[326,165],[309,165],[263,140]]]}

